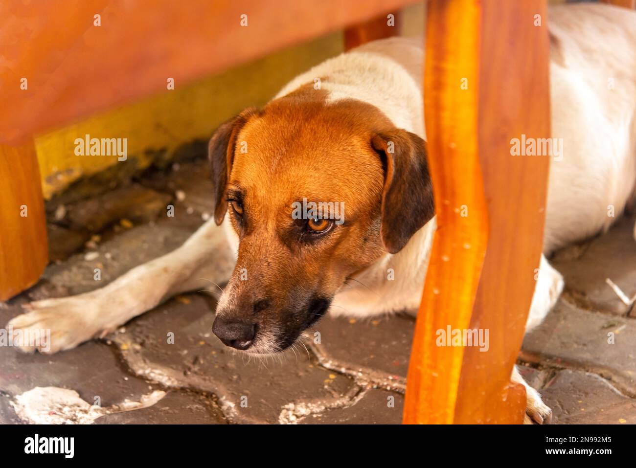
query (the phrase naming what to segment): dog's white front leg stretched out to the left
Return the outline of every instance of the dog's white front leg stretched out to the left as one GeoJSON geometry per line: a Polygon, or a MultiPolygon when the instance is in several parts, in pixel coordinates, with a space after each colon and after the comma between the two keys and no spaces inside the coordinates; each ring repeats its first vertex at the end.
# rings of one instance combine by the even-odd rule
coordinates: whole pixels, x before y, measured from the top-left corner
{"type": "MultiPolygon", "coordinates": [[[[48,353],[71,349],[105,336],[174,294],[226,282],[233,263],[223,229],[210,219],[176,251],[139,265],[95,291],[27,304],[24,308],[29,312],[8,326],[29,333],[50,330],[48,353]]],[[[24,352],[36,349],[22,344],[24,352]]]]}

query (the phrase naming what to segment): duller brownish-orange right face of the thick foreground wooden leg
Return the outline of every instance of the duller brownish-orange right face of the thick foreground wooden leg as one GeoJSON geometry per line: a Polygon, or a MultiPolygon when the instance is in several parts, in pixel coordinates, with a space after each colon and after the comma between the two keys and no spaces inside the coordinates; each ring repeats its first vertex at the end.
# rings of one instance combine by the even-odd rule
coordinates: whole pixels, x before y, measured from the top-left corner
{"type": "Polygon", "coordinates": [[[471,328],[490,330],[490,348],[466,348],[456,423],[521,423],[525,413],[525,389],[508,382],[536,286],[550,156],[511,156],[510,142],[550,138],[549,20],[544,0],[484,2],[479,153],[490,233],[471,328]]]}

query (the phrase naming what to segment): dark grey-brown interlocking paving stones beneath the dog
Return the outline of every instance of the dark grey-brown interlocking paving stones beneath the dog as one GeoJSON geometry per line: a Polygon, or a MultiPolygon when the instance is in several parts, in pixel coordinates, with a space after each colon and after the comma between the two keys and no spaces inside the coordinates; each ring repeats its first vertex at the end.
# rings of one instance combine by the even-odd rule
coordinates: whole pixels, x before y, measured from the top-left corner
{"type": "MultiPolygon", "coordinates": [[[[212,213],[208,176],[205,158],[195,158],[102,193],[81,196],[76,188],[49,202],[52,263],[36,286],[0,304],[0,327],[23,303],[95,288],[93,268],[102,269],[103,286],[176,248],[212,213]],[[173,218],[165,216],[169,203],[173,218]]],[[[634,221],[625,218],[553,259],[566,291],[525,337],[519,358],[553,423],[636,423],[636,320],[605,281],[628,298],[636,294],[634,221]]],[[[280,357],[248,360],[211,333],[215,300],[214,292],[183,294],[102,340],[55,355],[1,347],[0,423],[33,420],[18,417],[14,403],[34,387],[75,390],[90,404],[99,397],[112,410],[94,423],[401,422],[410,317],[327,317],[280,357]],[[141,409],[126,406],[149,395],[160,397],[141,409]]],[[[67,409],[51,416],[78,422],[67,409]]]]}

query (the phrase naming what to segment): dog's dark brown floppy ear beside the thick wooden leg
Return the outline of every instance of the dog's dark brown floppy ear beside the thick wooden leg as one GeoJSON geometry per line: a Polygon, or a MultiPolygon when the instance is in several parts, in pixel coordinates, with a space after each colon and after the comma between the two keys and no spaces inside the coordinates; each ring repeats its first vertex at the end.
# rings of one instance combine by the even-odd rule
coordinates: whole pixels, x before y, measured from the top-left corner
{"type": "Polygon", "coordinates": [[[406,130],[373,135],[371,146],[384,167],[380,235],[395,254],[435,214],[426,142],[406,130]]]}

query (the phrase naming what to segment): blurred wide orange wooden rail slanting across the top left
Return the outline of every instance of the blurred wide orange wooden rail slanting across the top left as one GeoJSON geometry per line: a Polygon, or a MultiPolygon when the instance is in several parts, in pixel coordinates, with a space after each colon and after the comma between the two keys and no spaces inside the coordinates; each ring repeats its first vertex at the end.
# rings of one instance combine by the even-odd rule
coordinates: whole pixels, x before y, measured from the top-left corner
{"type": "Polygon", "coordinates": [[[181,86],[416,1],[0,2],[0,142],[24,141],[161,92],[168,78],[181,86]]]}

